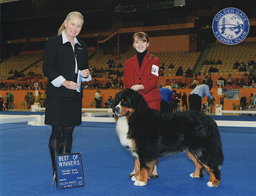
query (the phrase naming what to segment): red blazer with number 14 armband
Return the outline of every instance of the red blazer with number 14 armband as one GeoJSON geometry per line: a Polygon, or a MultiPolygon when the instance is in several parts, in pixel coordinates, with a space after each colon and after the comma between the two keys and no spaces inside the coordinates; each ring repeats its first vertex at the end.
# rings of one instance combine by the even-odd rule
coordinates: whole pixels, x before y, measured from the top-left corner
{"type": "Polygon", "coordinates": [[[137,54],[124,62],[124,85],[131,88],[133,85],[142,84],[145,89],[139,91],[146,101],[155,101],[162,96],[158,91],[158,71],[160,70],[160,59],[154,56],[150,60],[150,54],[146,53],[141,69],[137,54]]]}

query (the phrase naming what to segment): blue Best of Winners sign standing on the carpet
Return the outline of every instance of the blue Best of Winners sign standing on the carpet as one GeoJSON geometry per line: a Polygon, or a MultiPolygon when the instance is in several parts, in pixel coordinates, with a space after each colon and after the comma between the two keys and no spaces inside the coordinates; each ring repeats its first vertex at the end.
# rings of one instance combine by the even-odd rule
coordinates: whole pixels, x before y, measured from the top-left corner
{"type": "Polygon", "coordinates": [[[56,154],[57,189],[84,186],[81,153],[56,154]]]}

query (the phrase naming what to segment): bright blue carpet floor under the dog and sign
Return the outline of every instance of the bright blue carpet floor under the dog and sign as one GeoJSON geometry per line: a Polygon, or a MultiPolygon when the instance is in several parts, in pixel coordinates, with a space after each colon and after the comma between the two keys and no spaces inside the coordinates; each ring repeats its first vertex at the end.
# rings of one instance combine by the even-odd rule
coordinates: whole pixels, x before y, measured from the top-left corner
{"type": "Polygon", "coordinates": [[[115,124],[83,122],[75,128],[72,152],[82,153],[85,186],[57,190],[55,183],[50,186],[51,127],[0,126],[1,195],[255,195],[256,134],[248,128],[227,133],[229,127],[219,127],[225,162],[218,187],[207,187],[208,173],[189,177],[195,167],[185,153],[159,159],[159,178],[139,187],[129,178],[134,159],[119,143],[115,124]]]}

